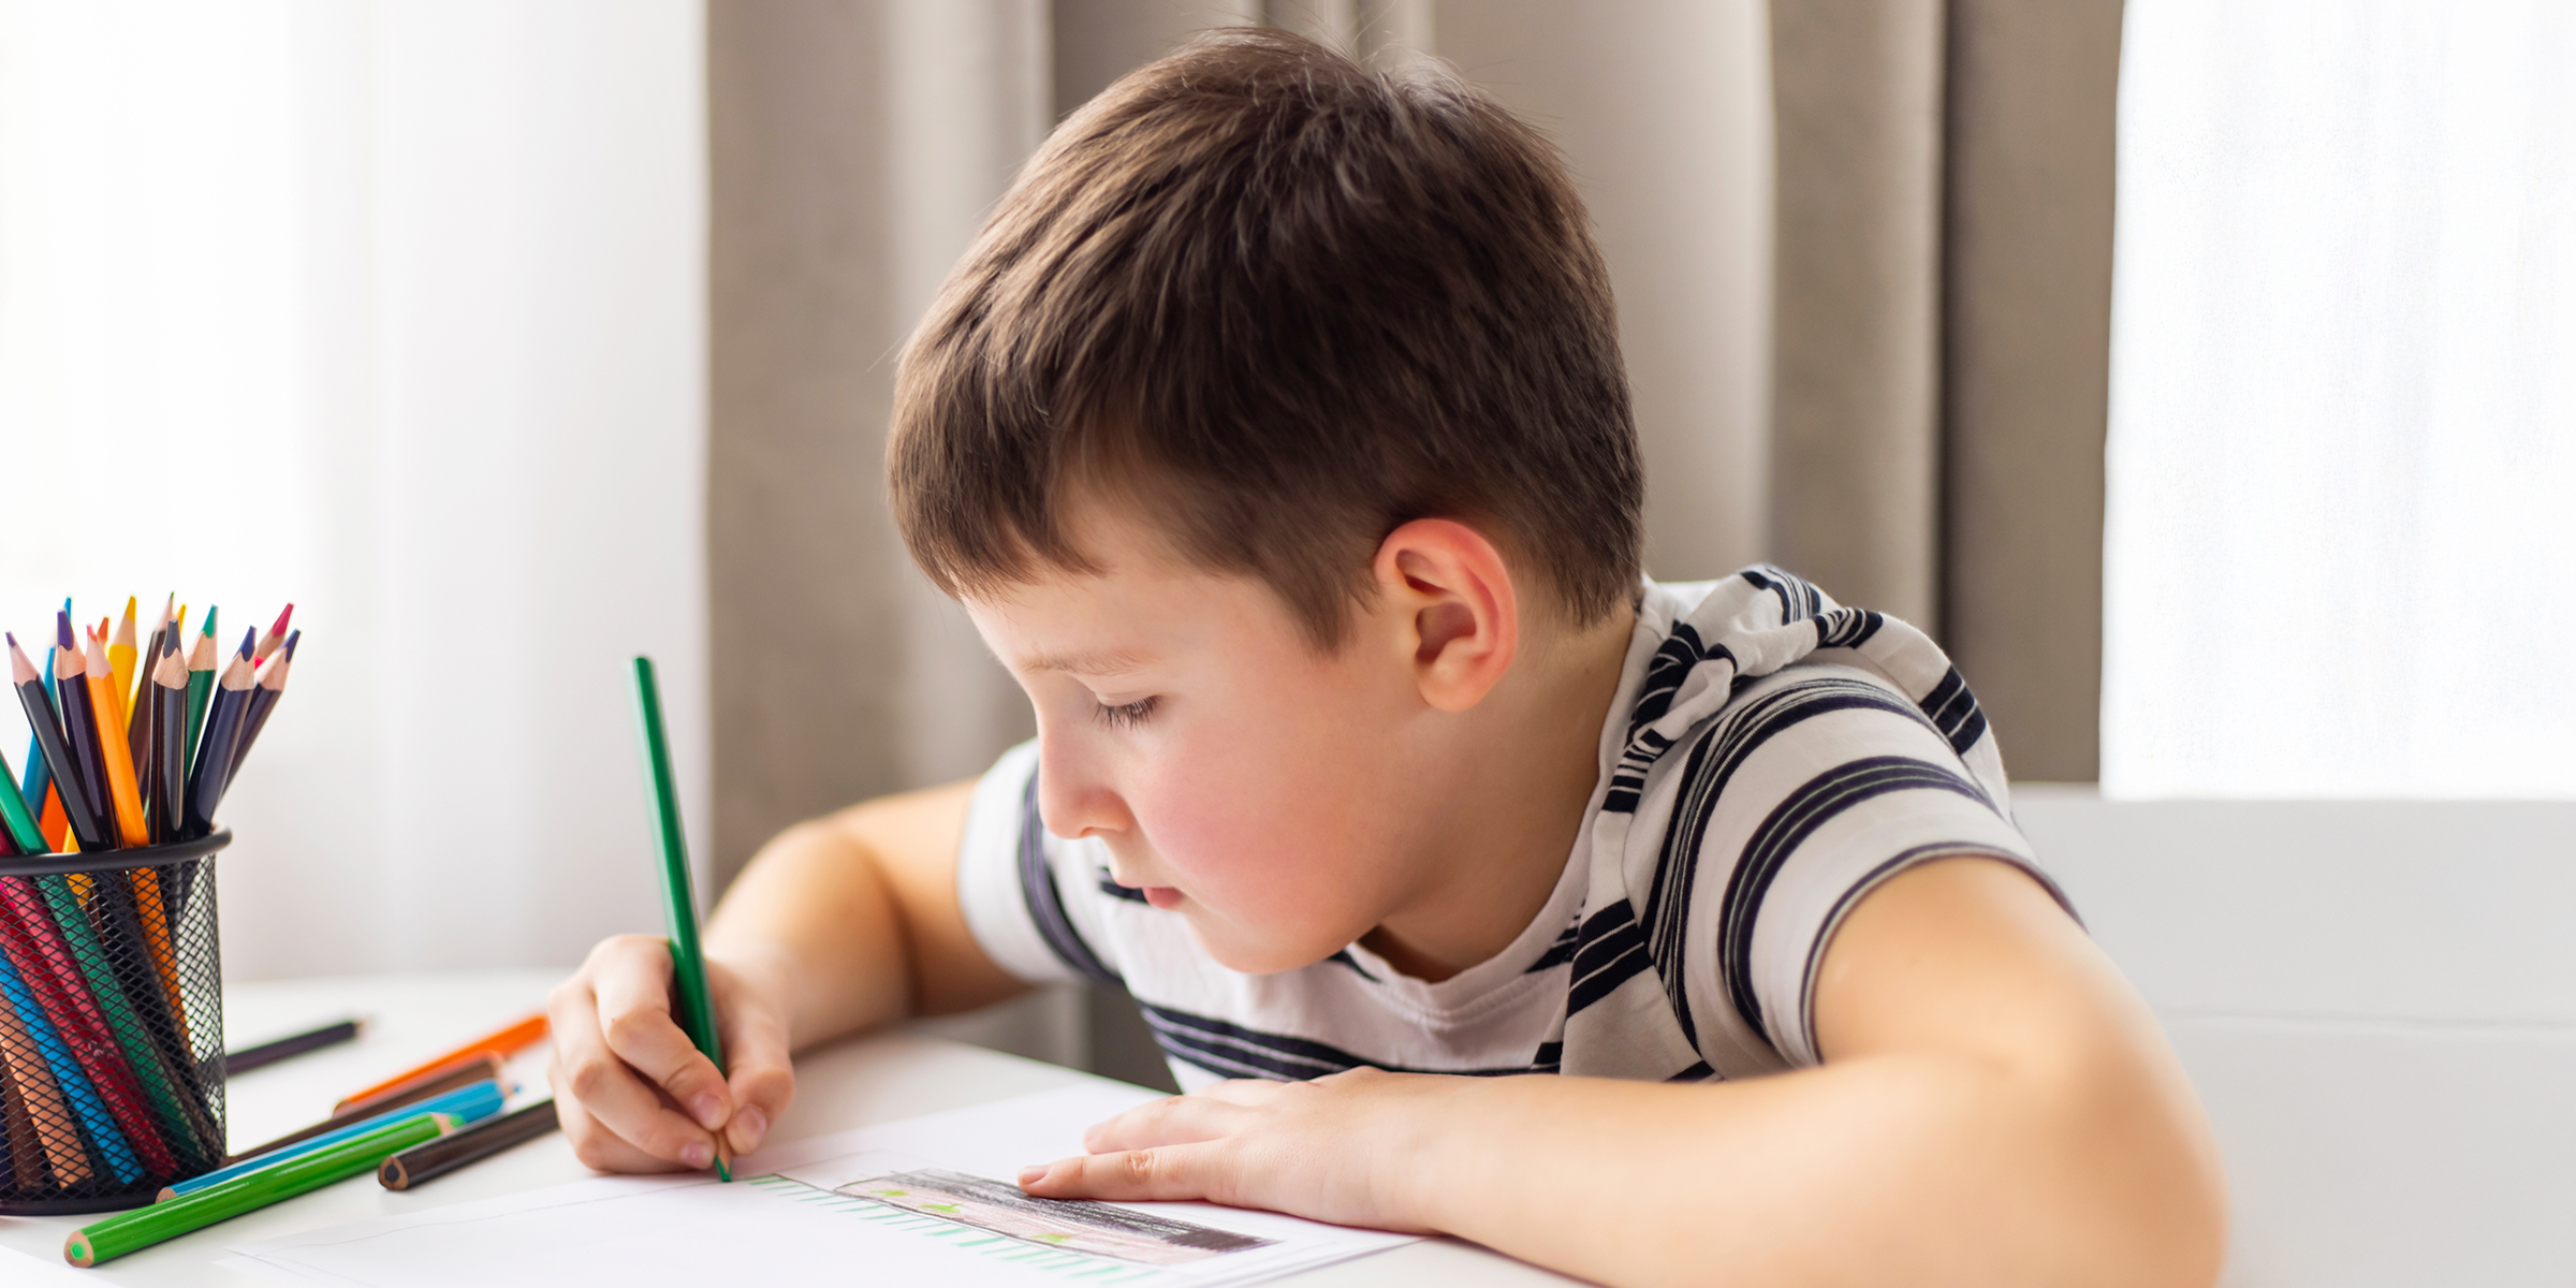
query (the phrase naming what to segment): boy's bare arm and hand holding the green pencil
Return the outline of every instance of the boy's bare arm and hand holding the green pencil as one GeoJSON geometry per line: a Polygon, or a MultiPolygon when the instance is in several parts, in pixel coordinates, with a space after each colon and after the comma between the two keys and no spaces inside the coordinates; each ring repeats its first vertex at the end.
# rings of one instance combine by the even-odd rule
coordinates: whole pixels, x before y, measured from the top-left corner
{"type": "Polygon", "coordinates": [[[724,891],[706,927],[726,1069],[670,1018],[670,951],[618,935],[546,1002],[549,1072],[574,1154],[598,1170],[706,1167],[714,1133],[757,1149],[793,1095],[788,1051],[904,1015],[1020,992],[976,948],[956,863],[974,783],[796,824],[724,891]]]}

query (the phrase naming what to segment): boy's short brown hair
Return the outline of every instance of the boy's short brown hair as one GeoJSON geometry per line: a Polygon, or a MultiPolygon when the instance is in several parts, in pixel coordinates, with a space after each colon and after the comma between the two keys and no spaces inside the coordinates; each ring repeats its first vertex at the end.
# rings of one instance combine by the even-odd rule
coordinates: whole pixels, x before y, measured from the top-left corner
{"type": "Polygon", "coordinates": [[[1610,276],[1556,149],[1437,64],[1213,31],[1069,116],[904,348],[894,513],[940,590],[1097,572],[1077,487],[1332,649],[1378,544],[1479,523],[1574,623],[1636,592],[1610,276]]]}

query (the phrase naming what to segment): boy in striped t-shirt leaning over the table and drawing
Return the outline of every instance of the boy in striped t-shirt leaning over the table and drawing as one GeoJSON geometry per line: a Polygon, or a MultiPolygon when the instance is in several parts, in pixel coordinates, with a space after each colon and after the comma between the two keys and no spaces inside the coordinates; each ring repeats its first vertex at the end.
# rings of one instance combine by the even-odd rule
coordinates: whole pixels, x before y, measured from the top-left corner
{"type": "Polygon", "coordinates": [[[1940,649],[1641,577],[1600,255],[1473,90],[1278,33],[1110,88],[907,348],[889,482],[1038,739],[752,860],[729,1084],[659,940],[603,943],[551,1002],[587,1164],[755,1149],[788,1051],[1087,976],[1188,1095],[1033,1195],[1602,1283],[2215,1275],[2200,1108],[1940,649]]]}

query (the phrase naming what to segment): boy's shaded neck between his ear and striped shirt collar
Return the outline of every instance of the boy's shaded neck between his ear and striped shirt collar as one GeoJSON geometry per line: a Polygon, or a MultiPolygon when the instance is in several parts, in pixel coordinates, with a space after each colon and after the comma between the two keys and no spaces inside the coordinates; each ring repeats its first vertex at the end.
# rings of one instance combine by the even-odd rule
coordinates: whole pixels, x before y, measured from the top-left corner
{"type": "Polygon", "coordinates": [[[1566,631],[1450,729],[1445,809],[1422,832],[1425,881],[1360,943],[1427,981],[1492,958],[1556,891],[1600,783],[1600,737],[1618,698],[1636,613],[1566,631]]]}

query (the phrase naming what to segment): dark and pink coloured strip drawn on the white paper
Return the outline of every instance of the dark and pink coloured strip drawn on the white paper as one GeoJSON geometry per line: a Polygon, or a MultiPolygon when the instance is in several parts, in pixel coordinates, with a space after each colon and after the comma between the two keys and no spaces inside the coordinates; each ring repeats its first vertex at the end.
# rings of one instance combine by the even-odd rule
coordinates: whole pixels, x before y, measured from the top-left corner
{"type": "Polygon", "coordinates": [[[1185,1265],[1273,1244],[1273,1239],[1234,1234],[1231,1229],[1146,1216],[1084,1198],[1030,1198],[1018,1185],[940,1167],[884,1172],[840,1185],[835,1193],[956,1221],[1036,1247],[1087,1252],[1136,1265],[1185,1265]]]}

